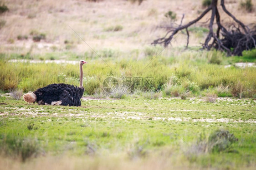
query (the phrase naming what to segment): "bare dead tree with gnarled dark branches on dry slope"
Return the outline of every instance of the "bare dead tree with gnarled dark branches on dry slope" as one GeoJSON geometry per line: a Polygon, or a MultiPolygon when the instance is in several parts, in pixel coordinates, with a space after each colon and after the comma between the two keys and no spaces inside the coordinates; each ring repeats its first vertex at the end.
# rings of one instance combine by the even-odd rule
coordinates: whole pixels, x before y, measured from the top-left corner
{"type": "MultiPolygon", "coordinates": [[[[240,20],[236,19],[234,15],[232,15],[225,7],[224,0],[221,0],[220,5],[224,12],[229,15],[238,27],[228,31],[221,23],[220,23],[220,14],[217,8],[218,0],[212,0],[211,5],[195,20],[190,21],[188,24],[179,25],[178,28],[172,29],[168,31],[164,37],[154,40],[152,44],[164,44],[166,47],[171,43],[174,35],[179,31],[186,29],[187,33],[187,45],[189,44],[189,31],[188,27],[192,24],[195,24],[200,19],[202,19],[210,10],[211,10],[211,18],[209,24],[209,34],[205,39],[205,43],[203,44],[204,49],[212,49],[215,48],[217,50],[225,51],[228,55],[241,55],[243,50],[249,50],[256,47],[256,30],[251,31],[245,24],[243,24],[240,20]],[[213,31],[214,20],[216,19],[216,24],[218,28],[216,33],[213,31]],[[240,30],[240,27],[242,30],[240,30]],[[222,34],[222,39],[220,39],[220,33],[222,34]]],[[[184,16],[181,19],[181,23],[184,16]]]]}

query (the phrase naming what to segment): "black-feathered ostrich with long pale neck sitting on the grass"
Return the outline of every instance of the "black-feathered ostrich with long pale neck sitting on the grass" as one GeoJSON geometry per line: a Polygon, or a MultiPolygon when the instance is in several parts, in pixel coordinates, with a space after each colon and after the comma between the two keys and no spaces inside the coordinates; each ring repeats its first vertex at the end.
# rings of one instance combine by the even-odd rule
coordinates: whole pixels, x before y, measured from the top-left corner
{"type": "Polygon", "coordinates": [[[80,65],[80,87],[70,84],[50,84],[46,87],[38,88],[34,92],[28,92],[23,95],[26,102],[39,105],[63,105],[63,106],[81,106],[81,97],[84,92],[82,86],[82,65],[87,62],[81,60],[80,65]]]}

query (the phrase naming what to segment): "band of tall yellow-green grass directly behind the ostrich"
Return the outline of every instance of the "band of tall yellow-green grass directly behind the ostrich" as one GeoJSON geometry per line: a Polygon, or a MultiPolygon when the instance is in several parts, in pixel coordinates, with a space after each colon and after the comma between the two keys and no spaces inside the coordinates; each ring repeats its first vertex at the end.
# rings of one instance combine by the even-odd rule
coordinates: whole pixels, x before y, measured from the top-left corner
{"type": "MultiPolygon", "coordinates": [[[[103,50],[100,54],[108,65],[99,58],[77,56],[76,60],[85,59],[89,62],[84,66],[85,93],[93,95],[98,88],[100,88],[99,91],[102,91],[104,79],[113,76],[119,80],[119,83],[122,83],[123,77],[153,77],[154,86],[144,85],[141,87],[142,90],[164,90],[169,81],[175,79],[170,86],[182,89],[179,90],[179,93],[190,92],[192,96],[198,96],[208,88],[215,88],[215,94],[219,97],[232,95],[238,97],[237,93],[242,94],[240,97],[256,95],[255,67],[235,68],[231,66],[225,68],[222,65],[222,60],[227,63],[227,60],[235,60],[236,56],[225,58],[223,53],[217,51],[198,52],[192,50],[179,53],[178,56],[175,56],[176,51],[174,51],[155,57],[159,50],[159,47],[152,49],[146,47],[145,58],[137,61],[120,57],[119,54],[122,53],[119,51],[103,50]],[[147,64],[149,64],[148,67],[146,67],[147,64]]],[[[253,55],[253,51],[244,52],[244,56],[241,58],[247,56],[251,58],[251,61],[255,61],[251,55],[253,55]]],[[[2,80],[0,89],[3,91],[18,88],[28,92],[51,83],[79,85],[79,67],[77,65],[44,62],[12,63],[4,59],[8,56],[2,54],[0,60],[0,78],[2,80]]],[[[49,58],[57,59],[58,57],[49,55],[49,58]]]]}

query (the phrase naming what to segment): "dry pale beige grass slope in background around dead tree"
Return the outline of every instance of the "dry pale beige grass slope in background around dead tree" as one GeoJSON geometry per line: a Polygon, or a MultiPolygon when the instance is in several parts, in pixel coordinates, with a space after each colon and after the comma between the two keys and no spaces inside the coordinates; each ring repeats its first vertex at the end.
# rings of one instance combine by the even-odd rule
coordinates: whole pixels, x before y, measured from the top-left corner
{"type": "MultiPolygon", "coordinates": [[[[183,23],[196,18],[203,11],[201,1],[195,0],[145,0],[141,5],[125,0],[102,0],[88,2],[86,0],[8,0],[5,4],[10,11],[1,15],[6,24],[0,32],[0,49],[3,52],[31,53],[51,52],[51,47],[57,50],[65,49],[64,41],[73,41],[76,53],[84,53],[90,49],[68,27],[70,25],[93,49],[118,49],[129,52],[133,49],[143,49],[154,39],[166,32],[157,26],[168,24],[164,14],[172,10],[177,13],[179,23],[185,14],[183,23]],[[111,26],[121,25],[123,30],[108,32],[111,26]],[[30,40],[19,41],[17,36],[29,35],[31,30],[46,34],[46,41],[34,44],[30,40]],[[10,42],[14,43],[10,44],[10,42]]],[[[226,7],[245,24],[256,23],[255,13],[239,10],[239,0],[226,0],[226,7]]],[[[220,13],[223,13],[220,10],[220,13]]],[[[210,13],[202,19],[209,19],[210,13]]],[[[230,22],[227,15],[221,15],[225,23],[230,22]]],[[[200,26],[200,24],[197,24],[200,26]]],[[[203,37],[192,35],[190,45],[199,45],[203,37]]],[[[173,46],[186,43],[185,35],[180,34],[173,46]]]]}

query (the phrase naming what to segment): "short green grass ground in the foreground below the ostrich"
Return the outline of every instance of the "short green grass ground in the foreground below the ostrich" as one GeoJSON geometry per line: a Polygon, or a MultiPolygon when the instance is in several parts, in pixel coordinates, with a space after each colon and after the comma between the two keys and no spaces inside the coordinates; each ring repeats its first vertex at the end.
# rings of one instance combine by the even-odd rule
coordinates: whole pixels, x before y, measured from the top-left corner
{"type": "MultiPolygon", "coordinates": [[[[175,165],[184,167],[255,167],[253,121],[256,120],[256,102],[251,99],[227,98],[210,103],[196,98],[152,100],[130,97],[82,100],[82,107],[52,107],[27,104],[2,96],[0,103],[6,103],[0,107],[0,147],[10,148],[10,140],[4,140],[4,136],[36,139],[36,144],[31,143],[34,146],[31,150],[39,156],[36,158],[38,161],[40,153],[77,158],[88,156],[89,165],[94,160],[105,160],[104,156],[119,155],[118,159],[124,159],[123,163],[132,160],[131,164],[136,163],[134,159],[149,161],[158,156],[156,164],[168,158],[176,162],[175,165]],[[201,133],[208,137],[218,129],[225,129],[238,138],[232,144],[232,151],[235,152],[193,152],[191,155],[191,147],[194,147],[201,133]]],[[[26,145],[7,150],[7,157],[19,155],[10,151],[23,151],[24,147],[26,145]]],[[[33,157],[31,155],[28,160],[33,157]]],[[[93,165],[90,167],[95,169],[93,165]]],[[[113,162],[113,169],[116,167],[118,164],[113,162]]]]}

